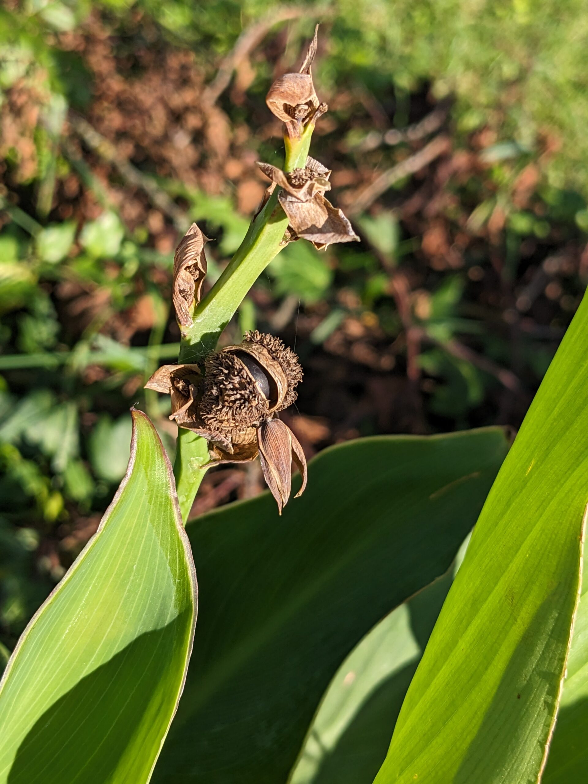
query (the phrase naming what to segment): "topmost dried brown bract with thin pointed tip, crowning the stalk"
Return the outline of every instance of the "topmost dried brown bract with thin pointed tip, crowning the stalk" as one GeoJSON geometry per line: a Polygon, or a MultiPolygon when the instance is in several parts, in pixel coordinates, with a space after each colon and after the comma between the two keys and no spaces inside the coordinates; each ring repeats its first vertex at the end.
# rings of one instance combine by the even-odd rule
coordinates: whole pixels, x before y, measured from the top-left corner
{"type": "Polygon", "coordinates": [[[316,122],[328,108],[326,103],[318,100],[312,81],[310,66],[317,53],[317,45],[318,25],[314,28],[314,37],[298,73],[284,74],[276,79],[266,96],[267,106],[285,123],[291,138],[299,137],[303,128],[310,122],[316,122]]]}

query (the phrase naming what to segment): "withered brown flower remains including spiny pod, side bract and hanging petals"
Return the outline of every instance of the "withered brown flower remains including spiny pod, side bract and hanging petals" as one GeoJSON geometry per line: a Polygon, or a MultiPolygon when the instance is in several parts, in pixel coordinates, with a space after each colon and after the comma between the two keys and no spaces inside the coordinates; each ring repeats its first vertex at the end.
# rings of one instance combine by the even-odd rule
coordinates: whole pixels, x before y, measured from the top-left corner
{"type": "Polygon", "coordinates": [[[238,346],[212,352],[205,372],[197,365],[164,365],[148,389],[172,397],[180,427],[209,442],[214,463],[240,463],[260,456],[263,476],[281,510],[289,499],[292,460],[307,485],[307,463],[296,436],[276,415],[296,400],[303,376],[298,358],[279,338],[247,332],[238,346]]]}

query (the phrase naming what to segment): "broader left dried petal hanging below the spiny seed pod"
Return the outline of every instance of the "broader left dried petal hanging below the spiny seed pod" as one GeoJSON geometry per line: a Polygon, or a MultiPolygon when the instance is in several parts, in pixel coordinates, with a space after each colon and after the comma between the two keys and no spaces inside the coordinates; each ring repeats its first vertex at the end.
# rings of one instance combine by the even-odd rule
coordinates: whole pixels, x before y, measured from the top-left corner
{"type": "Polygon", "coordinates": [[[292,431],[281,419],[270,419],[261,424],[257,438],[263,477],[281,514],[292,488],[292,431]]]}

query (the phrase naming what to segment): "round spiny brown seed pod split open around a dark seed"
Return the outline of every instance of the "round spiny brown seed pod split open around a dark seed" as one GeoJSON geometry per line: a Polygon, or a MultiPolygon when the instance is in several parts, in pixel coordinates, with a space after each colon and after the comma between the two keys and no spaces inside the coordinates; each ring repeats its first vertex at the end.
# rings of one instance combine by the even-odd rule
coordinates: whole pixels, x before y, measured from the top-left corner
{"type": "Polygon", "coordinates": [[[247,332],[237,346],[209,354],[199,412],[212,432],[243,433],[296,400],[303,372],[279,338],[247,332]]]}

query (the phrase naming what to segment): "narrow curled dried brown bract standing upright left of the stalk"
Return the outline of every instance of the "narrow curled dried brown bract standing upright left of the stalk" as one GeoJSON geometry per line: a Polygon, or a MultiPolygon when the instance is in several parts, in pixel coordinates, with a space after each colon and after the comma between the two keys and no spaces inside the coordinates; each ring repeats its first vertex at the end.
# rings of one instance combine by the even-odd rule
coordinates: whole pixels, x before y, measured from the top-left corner
{"type": "Polygon", "coordinates": [[[192,325],[191,310],[200,302],[200,292],[207,265],[204,253],[208,237],[202,234],[196,223],[184,234],[173,257],[173,307],[182,327],[192,325]]]}

